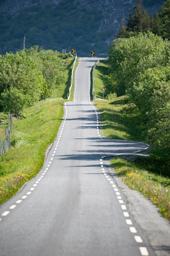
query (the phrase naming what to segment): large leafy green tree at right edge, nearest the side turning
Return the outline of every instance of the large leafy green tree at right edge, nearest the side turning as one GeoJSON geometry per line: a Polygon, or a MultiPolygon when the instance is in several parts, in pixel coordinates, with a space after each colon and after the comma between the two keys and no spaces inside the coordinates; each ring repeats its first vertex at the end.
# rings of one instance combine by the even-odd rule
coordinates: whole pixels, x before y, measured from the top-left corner
{"type": "Polygon", "coordinates": [[[153,152],[170,159],[170,67],[146,70],[132,91],[153,152]]]}

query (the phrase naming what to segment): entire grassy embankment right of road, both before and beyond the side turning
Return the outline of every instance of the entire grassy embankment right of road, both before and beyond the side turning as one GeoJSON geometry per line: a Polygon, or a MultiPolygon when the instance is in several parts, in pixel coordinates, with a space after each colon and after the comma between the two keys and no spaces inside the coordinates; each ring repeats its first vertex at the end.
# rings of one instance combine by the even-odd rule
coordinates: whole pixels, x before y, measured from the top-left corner
{"type": "MultiPolygon", "coordinates": [[[[139,123],[140,113],[135,105],[127,104],[125,97],[115,101],[101,100],[106,71],[106,62],[101,61],[95,69],[95,104],[101,113],[102,134],[111,139],[145,141],[139,123]]],[[[161,215],[170,221],[170,176],[160,173],[159,166],[151,171],[152,159],[148,157],[137,157],[133,161],[130,157],[114,157],[110,162],[125,184],[153,202],[161,215]]]]}

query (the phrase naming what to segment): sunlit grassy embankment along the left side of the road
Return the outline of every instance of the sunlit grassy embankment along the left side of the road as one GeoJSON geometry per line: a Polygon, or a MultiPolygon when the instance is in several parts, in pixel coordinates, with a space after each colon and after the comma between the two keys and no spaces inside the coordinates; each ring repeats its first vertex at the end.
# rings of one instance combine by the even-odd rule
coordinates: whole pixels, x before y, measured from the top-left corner
{"type": "MultiPolygon", "coordinates": [[[[62,121],[64,99],[59,97],[67,98],[73,58],[69,58],[65,65],[68,79],[65,87],[55,90],[51,99],[28,108],[24,119],[13,118],[11,148],[0,157],[0,204],[35,177],[44,164],[46,149],[54,141],[62,121]]],[[[0,118],[4,119],[0,124],[0,138],[3,140],[8,119],[4,113],[0,113],[0,118]]]]}

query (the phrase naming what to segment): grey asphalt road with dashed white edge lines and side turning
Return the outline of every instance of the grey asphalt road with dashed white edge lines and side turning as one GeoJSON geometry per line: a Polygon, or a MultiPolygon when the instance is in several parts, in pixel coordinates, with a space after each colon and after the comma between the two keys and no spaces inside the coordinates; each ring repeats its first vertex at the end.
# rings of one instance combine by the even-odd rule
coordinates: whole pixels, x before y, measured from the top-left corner
{"type": "Polygon", "coordinates": [[[0,207],[0,256],[154,256],[105,157],[146,144],[102,138],[89,99],[97,58],[81,58],[74,99],[35,179],[0,207]]]}

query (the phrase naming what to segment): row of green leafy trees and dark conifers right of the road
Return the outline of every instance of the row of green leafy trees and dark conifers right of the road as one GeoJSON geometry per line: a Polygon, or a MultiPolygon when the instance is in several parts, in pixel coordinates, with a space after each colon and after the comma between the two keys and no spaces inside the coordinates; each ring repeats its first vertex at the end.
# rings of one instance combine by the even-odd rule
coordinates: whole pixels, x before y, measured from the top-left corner
{"type": "MultiPolygon", "coordinates": [[[[162,19],[162,36],[149,31],[147,25],[140,31],[144,24],[137,19],[140,6],[139,0],[129,16],[126,37],[120,36],[111,43],[106,88],[107,93],[126,95],[129,102],[135,103],[152,154],[170,168],[170,41],[164,38],[170,32],[170,0],[159,14],[163,18],[163,13],[169,13],[162,19]]],[[[145,11],[142,13],[147,17],[145,11]]]]}

